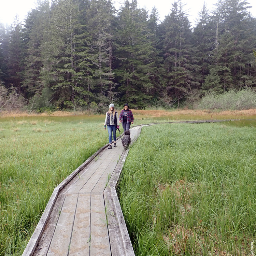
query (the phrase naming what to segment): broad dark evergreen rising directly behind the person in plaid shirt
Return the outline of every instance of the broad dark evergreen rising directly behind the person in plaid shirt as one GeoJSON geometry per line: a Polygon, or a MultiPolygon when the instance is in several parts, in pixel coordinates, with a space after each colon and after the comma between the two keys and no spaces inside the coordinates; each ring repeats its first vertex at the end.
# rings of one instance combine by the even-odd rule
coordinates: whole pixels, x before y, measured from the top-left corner
{"type": "Polygon", "coordinates": [[[147,14],[137,8],[137,1],[127,0],[122,7],[116,34],[116,78],[121,86],[122,103],[131,107],[144,108],[150,101],[153,84],[150,74],[153,72],[152,54],[154,48],[147,37],[147,14]]]}

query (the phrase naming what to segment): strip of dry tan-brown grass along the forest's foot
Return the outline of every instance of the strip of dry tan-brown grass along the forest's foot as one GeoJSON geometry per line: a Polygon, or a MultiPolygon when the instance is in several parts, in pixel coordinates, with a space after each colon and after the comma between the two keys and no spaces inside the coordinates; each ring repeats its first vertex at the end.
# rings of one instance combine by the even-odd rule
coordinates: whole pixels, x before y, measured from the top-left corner
{"type": "MultiPolygon", "coordinates": [[[[120,110],[118,110],[118,113],[120,113],[120,110]]],[[[218,117],[251,117],[256,116],[256,109],[249,109],[249,110],[235,110],[235,111],[222,111],[222,112],[216,112],[216,111],[210,111],[210,110],[173,110],[173,111],[167,111],[167,110],[135,110],[132,109],[132,113],[134,116],[146,116],[146,117],[167,117],[172,116],[175,119],[175,116],[202,116],[207,118],[218,118],[218,117]]],[[[86,111],[81,112],[67,112],[67,111],[55,111],[52,113],[27,113],[27,112],[1,112],[0,118],[4,117],[28,117],[28,116],[80,116],[80,115],[91,115],[86,111]]]]}

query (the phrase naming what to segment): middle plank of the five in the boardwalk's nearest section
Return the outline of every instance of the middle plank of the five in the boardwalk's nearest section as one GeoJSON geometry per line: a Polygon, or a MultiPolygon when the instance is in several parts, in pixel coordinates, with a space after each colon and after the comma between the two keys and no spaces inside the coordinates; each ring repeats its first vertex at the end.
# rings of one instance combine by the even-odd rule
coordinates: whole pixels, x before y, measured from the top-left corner
{"type": "Polygon", "coordinates": [[[70,243],[69,256],[85,256],[90,251],[91,196],[79,195],[70,243]]]}

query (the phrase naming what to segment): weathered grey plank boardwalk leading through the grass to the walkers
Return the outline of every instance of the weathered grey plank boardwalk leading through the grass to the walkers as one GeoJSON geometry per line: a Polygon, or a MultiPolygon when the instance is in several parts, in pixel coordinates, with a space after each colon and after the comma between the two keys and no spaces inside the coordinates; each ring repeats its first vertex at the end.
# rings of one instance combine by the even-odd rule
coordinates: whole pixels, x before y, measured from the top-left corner
{"type": "MultiPolygon", "coordinates": [[[[140,129],[130,130],[132,142],[140,129]]],[[[117,140],[52,196],[49,216],[40,219],[23,256],[134,255],[115,191],[127,153],[117,140]]]]}

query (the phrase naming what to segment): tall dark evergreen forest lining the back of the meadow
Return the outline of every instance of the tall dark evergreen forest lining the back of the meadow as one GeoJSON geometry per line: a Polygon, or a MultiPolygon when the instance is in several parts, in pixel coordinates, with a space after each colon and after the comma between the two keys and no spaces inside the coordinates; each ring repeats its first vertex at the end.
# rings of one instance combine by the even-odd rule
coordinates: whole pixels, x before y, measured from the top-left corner
{"type": "Polygon", "coordinates": [[[181,107],[212,90],[256,87],[256,18],[246,0],[204,5],[194,27],[181,0],[39,0],[23,22],[0,24],[0,96],[30,110],[181,107]]]}

